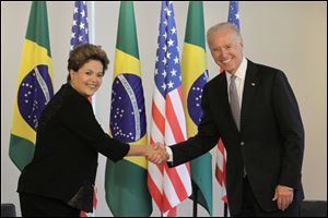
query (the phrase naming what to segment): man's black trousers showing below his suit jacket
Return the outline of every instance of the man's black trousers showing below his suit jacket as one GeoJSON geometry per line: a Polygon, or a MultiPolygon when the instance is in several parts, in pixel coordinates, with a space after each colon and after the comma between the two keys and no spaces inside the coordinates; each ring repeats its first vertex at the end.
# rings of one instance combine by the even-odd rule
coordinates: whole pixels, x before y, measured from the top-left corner
{"type": "Polygon", "coordinates": [[[265,211],[257,203],[246,175],[243,186],[243,206],[236,217],[301,217],[301,202],[294,193],[293,202],[285,210],[265,211]]]}

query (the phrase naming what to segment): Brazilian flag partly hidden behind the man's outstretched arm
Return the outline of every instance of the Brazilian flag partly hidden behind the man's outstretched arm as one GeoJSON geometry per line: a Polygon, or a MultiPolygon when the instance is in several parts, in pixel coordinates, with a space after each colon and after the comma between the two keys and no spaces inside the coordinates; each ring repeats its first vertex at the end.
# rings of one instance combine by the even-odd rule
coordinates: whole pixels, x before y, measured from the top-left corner
{"type": "MultiPolygon", "coordinates": [[[[181,77],[187,134],[188,137],[191,137],[197,133],[197,126],[202,116],[200,107],[202,87],[209,77],[206,64],[202,1],[189,1],[187,27],[181,58],[181,77]]],[[[190,169],[194,185],[191,198],[202,205],[208,210],[210,216],[212,216],[211,154],[207,153],[201,157],[190,161],[190,169]]]]}

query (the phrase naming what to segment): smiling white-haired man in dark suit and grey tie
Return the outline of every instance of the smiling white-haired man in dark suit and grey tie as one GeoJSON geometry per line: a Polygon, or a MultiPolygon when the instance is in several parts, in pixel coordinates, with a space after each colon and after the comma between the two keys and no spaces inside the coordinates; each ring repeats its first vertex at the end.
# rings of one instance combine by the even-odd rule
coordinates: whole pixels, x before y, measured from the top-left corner
{"type": "Polygon", "coordinates": [[[166,148],[168,165],[197,158],[221,137],[231,215],[300,216],[304,130],[286,76],[247,60],[241,33],[231,23],[212,26],[208,44],[224,73],[203,88],[197,135],[166,148]]]}

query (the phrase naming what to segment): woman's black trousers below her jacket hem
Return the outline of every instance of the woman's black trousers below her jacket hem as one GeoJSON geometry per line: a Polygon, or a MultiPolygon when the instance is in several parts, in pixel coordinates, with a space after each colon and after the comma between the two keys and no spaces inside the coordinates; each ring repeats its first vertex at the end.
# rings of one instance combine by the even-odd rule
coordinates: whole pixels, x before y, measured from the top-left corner
{"type": "Polygon", "coordinates": [[[22,217],[80,217],[80,209],[60,199],[20,193],[22,217]]]}

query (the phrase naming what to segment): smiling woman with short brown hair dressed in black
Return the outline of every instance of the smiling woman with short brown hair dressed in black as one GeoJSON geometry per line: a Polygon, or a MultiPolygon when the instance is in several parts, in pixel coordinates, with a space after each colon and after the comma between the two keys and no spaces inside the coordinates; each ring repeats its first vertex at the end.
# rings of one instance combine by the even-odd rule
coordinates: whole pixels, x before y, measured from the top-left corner
{"type": "Polygon", "coordinates": [[[70,52],[68,83],[50,99],[37,128],[34,158],[19,181],[22,216],[79,216],[92,211],[98,153],[113,161],[148,156],[160,149],[129,146],[106,134],[87,97],[102,85],[109,60],[104,50],[82,45],[70,52]]]}

